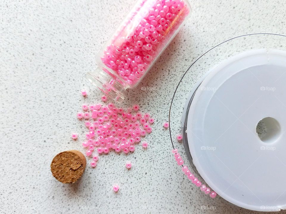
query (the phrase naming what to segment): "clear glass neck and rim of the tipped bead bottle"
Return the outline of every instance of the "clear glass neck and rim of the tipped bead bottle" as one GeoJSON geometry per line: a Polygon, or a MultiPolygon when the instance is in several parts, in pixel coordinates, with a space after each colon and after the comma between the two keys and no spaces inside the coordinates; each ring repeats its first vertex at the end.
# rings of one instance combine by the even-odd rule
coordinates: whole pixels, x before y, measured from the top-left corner
{"type": "Polygon", "coordinates": [[[114,101],[122,103],[125,99],[125,95],[123,93],[128,86],[125,86],[123,81],[107,69],[97,67],[94,72],[88,72],[85,77],[114,101]]]}

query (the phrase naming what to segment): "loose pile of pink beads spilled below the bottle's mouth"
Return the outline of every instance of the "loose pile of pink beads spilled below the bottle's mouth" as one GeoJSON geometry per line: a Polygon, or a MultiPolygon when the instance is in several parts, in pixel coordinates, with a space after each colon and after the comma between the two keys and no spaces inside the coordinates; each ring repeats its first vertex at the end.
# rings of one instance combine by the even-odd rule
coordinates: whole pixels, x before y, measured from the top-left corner
{"type": "MultiPolygon", "coordinates": [[[[141,137],[152,132],[151,124],[154,119],[150,114],[141,114],[138,105],[124,111],[116,108],[113,103],[107,106],[101,104],[82,106],[83,112],[77,113],[78,119],[85,119],[85,126],[88,128],[86,140],[83,147],[86,156],[91,156],[94,150],[99,154],[107,154],[111,150],[115,152],[129,153],[135,150],[134,144],[141,141],[141,137]],[[133,112],[133,114],[132,114],[133,112]]],[[[142,143],[147,148],[147,142],[142,143]]],[[[91,167],[95,167],[98,157],[95,155],[91,167]]]]}

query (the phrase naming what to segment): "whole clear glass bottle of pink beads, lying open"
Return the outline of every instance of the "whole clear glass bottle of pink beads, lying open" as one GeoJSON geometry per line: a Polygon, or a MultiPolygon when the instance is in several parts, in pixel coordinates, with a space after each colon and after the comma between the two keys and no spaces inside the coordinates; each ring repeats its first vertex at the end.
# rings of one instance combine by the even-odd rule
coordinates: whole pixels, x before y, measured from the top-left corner
{"type": "Polygon", "coordinates": [[[86,78],[121,103],[178,33],[190,14],[187,0],[139,0],[99,51],[86,78]]]}

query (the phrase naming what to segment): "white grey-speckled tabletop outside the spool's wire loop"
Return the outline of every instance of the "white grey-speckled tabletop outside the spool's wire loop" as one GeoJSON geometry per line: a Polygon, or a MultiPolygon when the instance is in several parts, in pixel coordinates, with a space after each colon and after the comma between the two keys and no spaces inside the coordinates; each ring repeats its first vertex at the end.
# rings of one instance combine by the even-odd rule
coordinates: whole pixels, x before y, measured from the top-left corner
{"type": "Polygon", "coordinates": [[[240,34],[286,34],[286,5],[190,3],[190,20],[122,104],[139,103],[142,111],[156,115],[148,149],[102,155],[96,169],[87,166],[77,183],[65,185],[52,177],[50,163],[61,151],[84,151],[84,128],[75,113],[83,102],[100,101],[101,94],[83,76],[95,69],[97,51],[132,1],[0,2],[1,213],[257,213],[214,202],[190,185],[170,153],[162,123],[181,75],[200,54],[240,34]],[[80,95],[83,88],[86,99],[80,95]],[[77,141],[71,140],[72,132],[79,133],[77,141]],[[133,163],[129,171],[126,161],[133,163]]]}

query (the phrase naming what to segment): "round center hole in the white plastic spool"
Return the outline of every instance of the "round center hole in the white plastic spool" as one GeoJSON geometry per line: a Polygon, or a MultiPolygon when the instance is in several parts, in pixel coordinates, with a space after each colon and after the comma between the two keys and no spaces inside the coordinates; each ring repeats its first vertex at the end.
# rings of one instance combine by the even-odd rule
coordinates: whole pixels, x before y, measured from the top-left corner
{"type": "Polygon", "coordinates": [[[273,143],[280,136],[281,127],[273,117],[265,117],[257,123],[256,133],[264,143],[273,143]]]}

